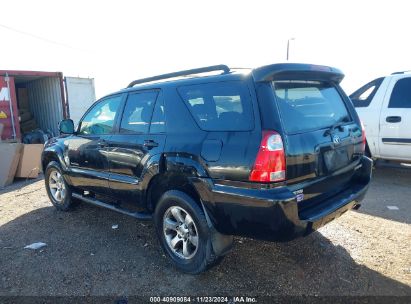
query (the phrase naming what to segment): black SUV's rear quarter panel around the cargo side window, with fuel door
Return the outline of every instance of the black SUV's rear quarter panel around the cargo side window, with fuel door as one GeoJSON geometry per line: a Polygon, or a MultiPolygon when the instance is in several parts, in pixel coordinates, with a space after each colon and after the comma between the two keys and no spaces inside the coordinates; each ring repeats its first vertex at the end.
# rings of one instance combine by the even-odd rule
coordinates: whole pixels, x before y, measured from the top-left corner
{"type": "MultiPolygon", "coordinates": [[[[249,131],[204,131],[202,130],[183,99],[177,87],[168,87],[165,92],[167,109],[167,141],[164,152],[178,157],[195,160],[201,156],[204,172],[216,180],[247,181],[252,170],[261,140],[260,111],[256,91],[250,77],[245,77],[253,105],[254,128],[249,131]],[[210,149],[220,149],[212,153],[210,149]],[[179,153],[179,155],[177,155],[179,153]],[[211,157],[208,157],[212,155],[211,157]]],[[[209,81],[205,80],[204,83],[209,81]]],[[[199,84],[199,83],[196,83],[199,84]]]]}

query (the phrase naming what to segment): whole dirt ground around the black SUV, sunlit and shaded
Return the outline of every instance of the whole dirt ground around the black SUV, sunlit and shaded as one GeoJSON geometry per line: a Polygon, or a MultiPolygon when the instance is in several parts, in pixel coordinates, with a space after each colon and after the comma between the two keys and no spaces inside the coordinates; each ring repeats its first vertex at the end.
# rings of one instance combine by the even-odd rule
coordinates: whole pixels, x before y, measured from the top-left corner
{"type": "Polygon", "coordinates": [[[58,212],[43,180],[20,181],[0,190],[0,296],[411,296],[410,181],[411,169],[378,166],[360,210],[288,243],[236,238],[197,276],[171,266],[150,223],[86,204],[58,212]],[[34,242],[47,246],[24,249],[34,242]]]}

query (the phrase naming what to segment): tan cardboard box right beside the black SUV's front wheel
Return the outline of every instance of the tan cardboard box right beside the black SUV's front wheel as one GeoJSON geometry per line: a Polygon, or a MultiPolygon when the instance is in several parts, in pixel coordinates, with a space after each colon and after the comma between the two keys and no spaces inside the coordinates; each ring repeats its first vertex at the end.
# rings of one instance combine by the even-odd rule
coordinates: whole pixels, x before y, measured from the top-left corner
{"type": "Polygon", "coordinates": [[[23,145],[16,177],[36,178],[41,168],[43,144],[23,145]]]}

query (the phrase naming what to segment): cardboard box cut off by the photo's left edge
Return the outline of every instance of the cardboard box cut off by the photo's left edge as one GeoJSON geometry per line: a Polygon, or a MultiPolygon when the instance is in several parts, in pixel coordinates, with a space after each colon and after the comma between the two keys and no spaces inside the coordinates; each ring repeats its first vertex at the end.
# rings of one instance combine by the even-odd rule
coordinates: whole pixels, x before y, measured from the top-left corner
{"type": "Polygon", "coordinates": [[[18,143],[0,143],[0,187],[13,182],[22,148],[18,143]]]}

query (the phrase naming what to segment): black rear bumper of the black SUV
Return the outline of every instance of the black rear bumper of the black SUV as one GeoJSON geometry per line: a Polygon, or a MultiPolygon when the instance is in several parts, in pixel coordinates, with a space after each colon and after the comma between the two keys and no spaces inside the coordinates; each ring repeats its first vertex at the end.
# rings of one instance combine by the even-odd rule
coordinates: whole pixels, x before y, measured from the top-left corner
{"type": "Polygon", "coordinates": [[[372,160],[363,157],[350,186],[314,207],[299,210],[287,187],[247,189],[195,181],[216,230],[223,234],[286,241],[307,235],[356,207],[371,180],[372,160]]]}

